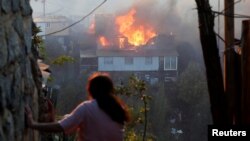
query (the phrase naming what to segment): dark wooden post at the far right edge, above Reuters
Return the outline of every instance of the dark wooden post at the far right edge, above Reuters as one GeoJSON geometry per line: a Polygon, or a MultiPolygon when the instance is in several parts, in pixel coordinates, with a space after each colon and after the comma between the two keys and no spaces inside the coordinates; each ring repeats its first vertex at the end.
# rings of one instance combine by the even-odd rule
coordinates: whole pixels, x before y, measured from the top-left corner
{"type": "Polygon", "coordinates": [[[242,124],[250,124],[250,20],[242,22],[242,124]]]}

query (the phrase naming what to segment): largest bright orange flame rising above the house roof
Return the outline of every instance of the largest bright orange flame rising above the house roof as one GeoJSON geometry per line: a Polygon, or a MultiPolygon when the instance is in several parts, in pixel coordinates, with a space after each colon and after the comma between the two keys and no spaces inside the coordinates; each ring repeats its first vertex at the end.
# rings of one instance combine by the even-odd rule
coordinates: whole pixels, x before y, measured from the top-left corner
{"type": "Polygon", "coordinates": [[[136,10],[132,9],[128,14],[118,16],[115,20],[119,33],[128,38],[128,42],[134,46],[145,45],[147,41],[156,36],[154,29],[148,25],[135,24],[136,10]]]}

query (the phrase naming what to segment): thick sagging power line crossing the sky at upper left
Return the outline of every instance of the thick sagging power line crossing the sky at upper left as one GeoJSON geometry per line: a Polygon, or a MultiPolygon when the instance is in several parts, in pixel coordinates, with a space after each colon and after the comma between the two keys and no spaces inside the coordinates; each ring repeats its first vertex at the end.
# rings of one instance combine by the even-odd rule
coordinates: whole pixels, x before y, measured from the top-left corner
{"type": "Polygon", "coordinates": [[[72,26],[80,23],[81,21],[83,21],[84,19],[86,19],[88,16],[90,16],[92,13],[94,13],[98,8],[100,8],[105,2],[107,2],[107,0],[103,0],[102,3],[100,3],[97,7],[95,7],[93,10],[91,10],[87,15],[83,16],[80,20],[78,20],[78,21],[70,24],[69,26],[66,26],[66,27],[64,27],[64,28],[62,28],[60,30],[55,31],[55,32],[51,32],[51,33],[40,35],[40,36],[43,37],[43,36],[48,36],[48,35],[56,34],[56,33],[62,32],[64,30],[66,30],[66,29],[68,29],[68,28],[70,28],[70,27],[72,27],[72,26]]]}

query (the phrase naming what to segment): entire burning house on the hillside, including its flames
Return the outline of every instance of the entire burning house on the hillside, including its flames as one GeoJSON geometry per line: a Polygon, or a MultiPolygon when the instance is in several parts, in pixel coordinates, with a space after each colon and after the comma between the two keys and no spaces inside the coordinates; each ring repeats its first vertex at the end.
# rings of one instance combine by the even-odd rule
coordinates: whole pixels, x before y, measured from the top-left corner
{"type": "Polygon", "coordinates": [[[82,71],[112,75],[133,73],[150,83],[174,81],[178,53],[172,34],[157,34],[153,26],[137,22],[135,9],[122,16],[96,15],[97,48],[81,53],[82,71]]]}

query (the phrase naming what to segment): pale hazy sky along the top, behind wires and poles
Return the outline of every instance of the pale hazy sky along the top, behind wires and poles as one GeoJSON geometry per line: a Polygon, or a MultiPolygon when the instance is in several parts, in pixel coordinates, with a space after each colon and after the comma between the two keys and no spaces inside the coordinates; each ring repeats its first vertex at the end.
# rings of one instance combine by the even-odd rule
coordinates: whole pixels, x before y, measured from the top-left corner
{"type": "MultiPolygon", "coordinates": [[[[33,8],[33,17],[42,15],[43,0],[30,0],[33,8]]],[[[210,0],[210,4],[214,11],[218,11],[218,2],[220,1],[220,10],[223,10],[224,0],[210,0]]],[[[235,0],[236,1],[236,0],[235,0]]],[[[84,16],[93,8],[95,8],[102,0],[46,0],[45,13],[47,15],[77,15],[84,16]]],[[[195,0],[107,0],[107,2],[99,8],[97,13],[119,14],[128,11],[135,6],[143,6],[140,13],[144,13],[144,17],[152,18],[157,27],[162,27],[163,31],[173,32],[177,38],[197,42],[198,36],[198,19],[195,10],[195,0]],[[164,17],[164,18],[163,18],[164,17]],[[164,24],[165,26],[162,26],[164,24]]],[[[250,0],[241,0],[235,5],[235,13],[247,15],[250,13],[250,0]]],[[[223,36],[223,20],[220,16],[220,30],[218,31],[218,18],[215,19],[215,31],[223,36]]],[[[242,19],[235,19],[235,35],[241,35],[242,19]]],[[[161,29],[159,30],[161,31],[161,29]]]]}

